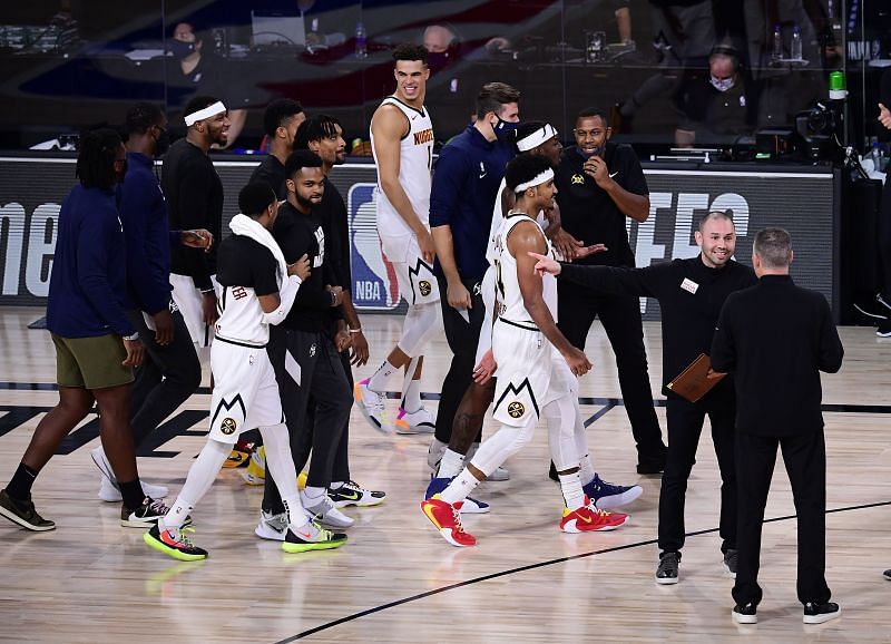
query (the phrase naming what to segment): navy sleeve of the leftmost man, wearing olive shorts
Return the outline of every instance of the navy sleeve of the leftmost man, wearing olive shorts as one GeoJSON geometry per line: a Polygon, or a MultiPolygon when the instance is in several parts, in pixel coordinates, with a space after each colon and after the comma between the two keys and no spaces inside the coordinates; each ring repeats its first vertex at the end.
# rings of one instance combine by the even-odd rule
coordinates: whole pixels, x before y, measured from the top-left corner
{"type": "MultiPolygon", "coordinates": [[[[97,217],[99,219],[99,217],[97,217]]],[[[136,332],[120,305],[118,293],[108,281],[110,271],[124,266],[111,266],[108,248],[121,243],[117,219],[102,216],[100,225],[89,230],[80,228],[77,241],[77,276],[80,287],[99,316],[118,335],[136,332]]]]}

